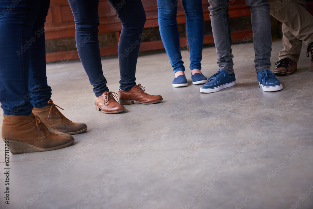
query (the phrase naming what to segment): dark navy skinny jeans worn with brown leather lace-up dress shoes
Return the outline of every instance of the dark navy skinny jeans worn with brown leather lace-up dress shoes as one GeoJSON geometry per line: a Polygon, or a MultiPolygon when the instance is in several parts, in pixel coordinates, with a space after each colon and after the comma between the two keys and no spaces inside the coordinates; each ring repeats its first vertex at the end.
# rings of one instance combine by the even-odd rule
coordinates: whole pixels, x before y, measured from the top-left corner
{"type": "MultiPolygon", "coordinates": [[[[129,91],[136,85],[136,64],[146,13],[141,0],[108,0],[108,2],[122,23],[117,50],[121,75],[120,89],[129,91]]],[[[75,19],[78,55],[94,93],[99,97],[105,91],[109,91],[103,76],[99,49],[99,0],[69,0],[69,5],[75,19]]]]}

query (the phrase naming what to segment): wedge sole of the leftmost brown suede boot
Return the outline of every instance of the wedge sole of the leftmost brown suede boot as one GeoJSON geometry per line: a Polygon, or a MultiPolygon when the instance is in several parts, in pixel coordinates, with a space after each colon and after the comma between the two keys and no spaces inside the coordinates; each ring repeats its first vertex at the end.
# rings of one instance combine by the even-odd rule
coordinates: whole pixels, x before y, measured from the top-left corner
{"type": "MultiPolygon", "coordinates": [[[[3,141],[5,142],[5,139],[3,139],[3,141]]],[[[68,147],[69,145],[73,143],[74,143],[74,139],[73,141],[67,144],[63,144],[63,145],[52,147],[52,148],[46,148],[46,149],[37,147],[33,144],[27,144],[25,142],[17,141],[17,140],[10,140],[9,145],[10,145],[10,152],[12,154],[21,154],[21,153],[43,152],[43,151],[50,151],[54,149],[61,149],[64,147],[68,147]]]]}

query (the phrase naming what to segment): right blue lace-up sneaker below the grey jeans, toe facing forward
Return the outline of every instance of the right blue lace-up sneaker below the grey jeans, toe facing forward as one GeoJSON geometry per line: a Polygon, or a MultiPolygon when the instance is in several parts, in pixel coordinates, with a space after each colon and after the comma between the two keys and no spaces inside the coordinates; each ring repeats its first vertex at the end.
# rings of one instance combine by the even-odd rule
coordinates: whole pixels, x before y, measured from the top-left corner
{"type": "Polygon", "coordinates": [[[270,70],[260,71],[256,78],[259,81],[259,87],[262,86],[263,91],[279,91],[283,89],[283,85],[270,70]]]}

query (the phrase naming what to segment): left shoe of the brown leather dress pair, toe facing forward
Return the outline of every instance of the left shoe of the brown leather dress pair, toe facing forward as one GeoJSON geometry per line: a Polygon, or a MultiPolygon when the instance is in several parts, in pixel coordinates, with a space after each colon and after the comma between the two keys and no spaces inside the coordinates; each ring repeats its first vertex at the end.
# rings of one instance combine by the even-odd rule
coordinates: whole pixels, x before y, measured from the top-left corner
{"type": "Polygon", "coordinates": [[[117,93],[113,91],[105,91],[100,97],[95,98],[96,110],[109,114],[124,112],[125,107],[116,102],[116,100],[114,99],[114,97],[117,98],[117,96],[117,93]]]}

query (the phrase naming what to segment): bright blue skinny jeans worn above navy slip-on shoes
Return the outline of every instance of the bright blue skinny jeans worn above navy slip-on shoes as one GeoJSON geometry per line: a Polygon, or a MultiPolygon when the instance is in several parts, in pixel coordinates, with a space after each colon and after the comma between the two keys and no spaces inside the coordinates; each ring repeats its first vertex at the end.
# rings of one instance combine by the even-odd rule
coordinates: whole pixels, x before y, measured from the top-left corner
{"type": "MultiPolygon", "coordinates": [[[[157,0],[158,22],[162,42],[174,73],[185,71],[179,46],[179,33],[177,28],[177,0],[157,0]]],[[[190,70],[201,70],[204,17],[201,0],[182,0],[186,13],[187,40],[190,51],[190,70]]]]}

